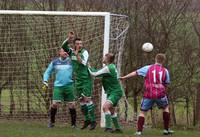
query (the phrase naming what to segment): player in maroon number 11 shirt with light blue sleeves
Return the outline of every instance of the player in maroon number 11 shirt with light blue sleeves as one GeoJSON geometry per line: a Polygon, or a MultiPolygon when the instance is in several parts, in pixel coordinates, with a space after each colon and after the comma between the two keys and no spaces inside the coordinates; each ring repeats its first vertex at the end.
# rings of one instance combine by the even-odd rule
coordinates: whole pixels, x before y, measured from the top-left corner
{"type": "Polygon", "coordinates": [[[138,117],[136,135],[142,134],[145,122],[145,112],[150,110],[154,103],[163,110],[163,134],[169,135],[173,133],[169,128],[170,113],[169,102],[166,96],[166,87],[167,84],[170,83],[170,76],[168,70],[163,67],[165,60],[165,54],[159,53],[155,57],[155,64],[144,66],[126,76],[120,77],[121,80],[134,76],[143,76],[145,78],[145,90],[141,101],[141,112],[138,117]]]}

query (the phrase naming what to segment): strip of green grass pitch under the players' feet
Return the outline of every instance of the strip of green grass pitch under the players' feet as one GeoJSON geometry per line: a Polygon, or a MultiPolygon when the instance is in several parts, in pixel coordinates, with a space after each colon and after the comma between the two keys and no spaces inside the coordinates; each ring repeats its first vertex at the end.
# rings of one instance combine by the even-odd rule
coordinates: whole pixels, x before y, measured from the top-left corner
{"type": "MultiPolygon", "coordinates": [[[[57,124],[48,129],[46,123],[30,121],[0,121],[0,137],[134,137],[133,128],[124,128],[123,134],[104,133],[102,128],[94,131],[72,129],[66,124],[57,124]]],[[[198,131],[176,130],[172,137],[199,137],[198,131]]],[[[142,137],[163,137],[162,130],[145,129],[142,137]]]]}

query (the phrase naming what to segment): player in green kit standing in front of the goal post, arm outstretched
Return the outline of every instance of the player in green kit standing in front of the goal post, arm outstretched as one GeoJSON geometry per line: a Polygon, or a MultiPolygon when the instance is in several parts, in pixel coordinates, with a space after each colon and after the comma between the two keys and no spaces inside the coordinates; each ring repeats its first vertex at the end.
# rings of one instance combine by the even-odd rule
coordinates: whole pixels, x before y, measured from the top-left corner
{"type": "Polygon", "coordinates": [[[116,106],[123,95],[123,90],[118,80],[118,72],[113,64],[114,55],[108,53],[103,58],[103,63],[105,67],[96,71],[95,69],[89,68],[90,74],[92,76],[102,77],[102,85],[107,94],[107,100],[103,105],[103,111],[105,113],[105,132],[108,133],[122,133],[121,127],[119,125],[116,106]],[[114,124],[115,130],[112,130],[112,123],[114,124]]]}

